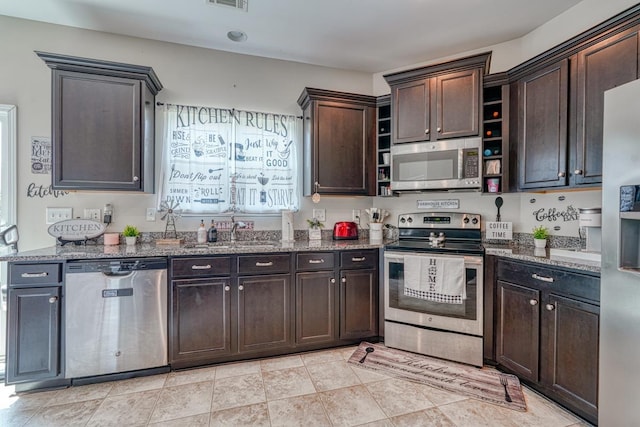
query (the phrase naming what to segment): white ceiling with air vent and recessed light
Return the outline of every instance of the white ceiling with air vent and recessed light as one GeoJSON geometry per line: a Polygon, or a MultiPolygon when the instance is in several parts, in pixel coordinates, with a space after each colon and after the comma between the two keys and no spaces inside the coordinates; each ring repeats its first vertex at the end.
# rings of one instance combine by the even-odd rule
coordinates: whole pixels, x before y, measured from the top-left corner
{"type": "Polygon", "coordinates": [[[0,15],[381,72],[521,37],[580,0],[20,0],[0,15]],[[227,32],[248,39],[233,42],[227,32]]]}

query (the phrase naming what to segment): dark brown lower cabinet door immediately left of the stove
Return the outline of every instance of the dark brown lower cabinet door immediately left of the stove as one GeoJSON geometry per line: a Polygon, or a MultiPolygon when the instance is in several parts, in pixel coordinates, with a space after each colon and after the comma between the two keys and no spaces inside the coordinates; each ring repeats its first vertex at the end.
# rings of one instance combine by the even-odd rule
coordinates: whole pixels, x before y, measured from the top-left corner
{"type": "Polygon", "coordinates": [[[340,272],[340,339],[378,335],[378,274],[375,269],[340,272]]]}

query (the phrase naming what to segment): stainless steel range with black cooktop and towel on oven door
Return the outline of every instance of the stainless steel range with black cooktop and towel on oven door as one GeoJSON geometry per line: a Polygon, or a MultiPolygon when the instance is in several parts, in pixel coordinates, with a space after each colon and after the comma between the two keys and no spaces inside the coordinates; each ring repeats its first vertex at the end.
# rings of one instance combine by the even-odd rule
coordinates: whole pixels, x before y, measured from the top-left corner
{"type": "MultiPolygon", "coordinates": [[[[482,366],[483,262],[481,217],[421,212],[398,217],[399,239],[385,246],[385,345],[482,366]],[[461,277],[463,295],[450,300],[414,292],[408,262],[448,261],[439,274],[461,277]],[[453,269],[453,270],[452,270],[453,269]]],[[[415,268],[413,268],[415,270],[415,268]]]]}

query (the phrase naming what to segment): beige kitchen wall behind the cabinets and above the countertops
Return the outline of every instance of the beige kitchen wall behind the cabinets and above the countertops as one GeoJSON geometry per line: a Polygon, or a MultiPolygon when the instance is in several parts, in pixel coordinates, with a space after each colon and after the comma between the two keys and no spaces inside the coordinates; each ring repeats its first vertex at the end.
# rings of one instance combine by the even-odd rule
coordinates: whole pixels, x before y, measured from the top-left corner
{"type": "MultiPolygon", "coordinates": [[[[521,39],[475,52],[493,51],[491,71],[503,71],[633,4],[634,2],[627,0],[584,0],[521,39]]],[[[34,50],[151,66],[164,85],[158,100],[170,103],[226,106],[297,115],[300,110],[296,100],[305,86],[373,95],[389,92],[382,77],[386,72],[372,76],[4,16],[0,16],[0,39],[4,41],[0,45],[3,58],[0,61],[0,103],[18,106],[18,226],[21,250],[53,244],[53,239],[46,233],[46,207],[72,207],[74,216],[81,216],[84,208],[102,208],[105,203],[112,203],[115,221],[110,231],[120,231],[126,224],[135,224],[143,231],[164,229],[164,223],[159,220],[145,221],[146,208],[156,204],[155,195],[82,192],[60,198],[26,196],[30,183],[44,186],[50,183],[50,175],[37,175],[30,171],[31,137],[51,134],[50,69],[33,53],[34,50]]],[[[474,52],[452,57],[470,53],[474,52]]],[[[403,68],[420,65],[424,64],[403,68]]],[[[158,146],[158,150],[160,149],[158,146]]],[[[156,169],[159,170],[159,164],[156,169]]],[[[516,231],[529,231],[532,226],[528,206],[530,195],[506,194],[503,197],[503,219],[513,221],[516,231]]],[[[476,193],[425,193],[390,199],[323,197],[318,205],[313,205],[309,198],[303,198],[301,212],[296,214],[295,227],[305,227],[305,219],[312,216],[311,209],[314,207],[326,209],[327,226],[338,220],[349,220],[353,208],[364,209],[372,205],[392,210],[394,215],[389,222],[394,223],[398,213],[416,210],[416,200],[438,198],[459,199],[460,211],[478,212],[487,219],[495,216],[495,198],[476,193]]],[[[566,205],[566,202],[556,203],[557,195],[543,195],[539,199],[544,200],[546,205],[557,206],[559,209],[566,205]]],[[[600,199],[600,191],[590,191],[571,193],[570,202],[576,207],[593,207],[600,205],[600,199]]],[[[209,222],[210,218],[204,219],[209,222]]],[[[258,228],[280,227],[279,218],[251,219],[256,221],[258,228]]],[[[199,220],[199,217],[182,218],[178,229],[195,231],[199,220]]],[[[576,235],[576,228],[565,226],[557,234],[576,235]]]]}

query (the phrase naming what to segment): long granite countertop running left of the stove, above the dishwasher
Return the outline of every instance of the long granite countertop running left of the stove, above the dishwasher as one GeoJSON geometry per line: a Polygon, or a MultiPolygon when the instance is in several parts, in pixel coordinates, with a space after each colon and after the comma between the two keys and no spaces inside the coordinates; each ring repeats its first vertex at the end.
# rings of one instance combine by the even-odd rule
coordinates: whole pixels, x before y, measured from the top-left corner
{"type": "Polygon", "coordinates": [[[127,245],[74,245],[50,246],[42,249],[0,255],[0,261],[62,261],[71,259],[135,258],[167,256],[202,256],[242,253],[278,253],[299,251],[336,251],[381,248],[387,242],[372,244],[368,239],[360,240],[301,240],[292,243],[279,241],[217,242],[211,245],[156,245],[142,243],[127,245]]]}

